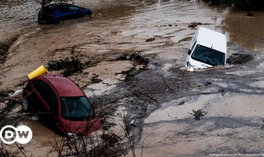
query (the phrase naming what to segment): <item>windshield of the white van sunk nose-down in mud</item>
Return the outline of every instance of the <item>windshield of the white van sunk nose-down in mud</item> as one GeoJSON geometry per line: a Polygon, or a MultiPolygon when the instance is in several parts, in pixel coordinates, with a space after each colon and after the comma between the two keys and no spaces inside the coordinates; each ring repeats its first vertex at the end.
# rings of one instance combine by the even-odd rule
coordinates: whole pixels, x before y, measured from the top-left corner
{"type": "Polygon", "coordinates": [[[192,59],[212,66],[223,65],[225,63],[225,54],[209,47],[197,45],[192,59]]]}

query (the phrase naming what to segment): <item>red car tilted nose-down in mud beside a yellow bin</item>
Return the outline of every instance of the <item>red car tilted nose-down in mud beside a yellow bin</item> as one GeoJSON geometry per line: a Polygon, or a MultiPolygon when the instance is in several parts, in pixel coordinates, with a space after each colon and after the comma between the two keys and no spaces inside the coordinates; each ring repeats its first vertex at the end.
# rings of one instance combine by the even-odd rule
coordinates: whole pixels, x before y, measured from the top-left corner
{"type": "Polygon", "coordinates": [[[78,136],[100,129],[87,96],[63,75],[44,74],[31,79],[23,98],[23,111],[33,111],[48,128],[63,136],[78,136]]]}

